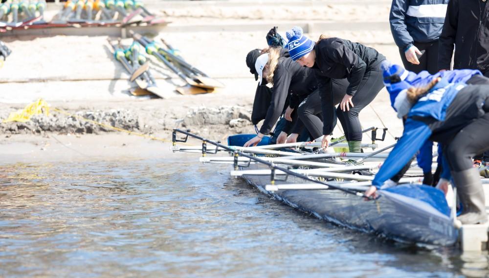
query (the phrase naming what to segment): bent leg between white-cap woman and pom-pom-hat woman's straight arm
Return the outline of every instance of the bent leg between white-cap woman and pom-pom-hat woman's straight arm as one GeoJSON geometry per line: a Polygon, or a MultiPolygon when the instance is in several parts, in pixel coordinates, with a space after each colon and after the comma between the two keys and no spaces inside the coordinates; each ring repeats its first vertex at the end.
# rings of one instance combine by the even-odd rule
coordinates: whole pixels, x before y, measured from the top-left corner
{"type": "MultiPolygon", "coordinates": [[[[317,116],[320,113],[321,100],[317,90],[304,99],[297,108],[297,115],[311,134],[311,139],[317,139],[323,135],[323,121],[317,116]]],[[[336,125],[336,119],[333,125],[336,125]]]]}

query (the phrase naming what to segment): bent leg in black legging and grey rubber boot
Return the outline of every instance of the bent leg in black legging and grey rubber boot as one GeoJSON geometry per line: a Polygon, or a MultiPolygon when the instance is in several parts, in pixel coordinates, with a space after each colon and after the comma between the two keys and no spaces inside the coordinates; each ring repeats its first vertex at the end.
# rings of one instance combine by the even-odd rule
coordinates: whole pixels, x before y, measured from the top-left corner
{"type": "Polygon", "coordinates": [[[452,178],[463,211],[462,224],[487,222],[484,189],[479,172],[472,167],[472,157],[489,150],[489,113],[464,127],[445,147],[444,156],[450,165],[452,178]]]}

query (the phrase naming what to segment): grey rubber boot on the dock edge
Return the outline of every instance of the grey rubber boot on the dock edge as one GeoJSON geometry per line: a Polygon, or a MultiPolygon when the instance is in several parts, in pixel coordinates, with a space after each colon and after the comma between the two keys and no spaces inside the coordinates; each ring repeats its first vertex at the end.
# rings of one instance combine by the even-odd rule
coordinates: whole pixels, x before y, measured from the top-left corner
{"type": "Polygon", "coordinates": [[[486,198],[477,168],[451,173],[462,203],[462,214],[457,219],[462,224],[486,223],[486,198]]]}

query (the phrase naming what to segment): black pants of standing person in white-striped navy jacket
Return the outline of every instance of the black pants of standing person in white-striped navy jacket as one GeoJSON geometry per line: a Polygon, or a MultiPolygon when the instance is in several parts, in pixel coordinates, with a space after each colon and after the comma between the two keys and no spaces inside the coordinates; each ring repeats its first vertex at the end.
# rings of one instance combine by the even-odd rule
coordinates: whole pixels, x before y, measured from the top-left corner
{"type": "Polygon", "coordinates": [[[403,49],[399,49],[400,59],[404,68],[408,71],[420,73],[423,70],[428,71],[430,74],[438,72],[438,40],[432,42],[414,42],[414,46],[418,47],[422,55],[419,65],[412,64],[406,60],[406,54],[403,49]]]}

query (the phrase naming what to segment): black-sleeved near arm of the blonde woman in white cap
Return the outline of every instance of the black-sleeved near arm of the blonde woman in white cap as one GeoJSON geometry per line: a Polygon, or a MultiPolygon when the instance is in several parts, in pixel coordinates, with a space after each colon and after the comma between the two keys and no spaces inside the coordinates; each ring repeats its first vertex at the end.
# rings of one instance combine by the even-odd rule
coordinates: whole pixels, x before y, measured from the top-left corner
{"type": "Polygon", "coordinates": [[[263,125],[260,128],[261,134],[270,134],[272,127],[282,115],[291,79],[292,77],[287,69],[277,66],[273,76],[273,94],[267,110],[267,116],[265,116],[263,125]]]}

